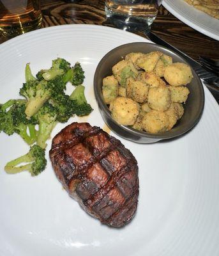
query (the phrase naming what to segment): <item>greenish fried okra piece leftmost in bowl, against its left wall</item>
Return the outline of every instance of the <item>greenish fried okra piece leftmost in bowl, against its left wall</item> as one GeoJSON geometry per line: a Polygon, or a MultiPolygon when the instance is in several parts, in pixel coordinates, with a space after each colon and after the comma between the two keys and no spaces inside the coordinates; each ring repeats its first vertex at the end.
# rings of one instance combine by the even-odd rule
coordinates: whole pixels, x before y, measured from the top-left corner
{"type": "Polygon", "coordinates": [[[103,78],[103,99],[106,104],[116,99],[118,95],[119,83],[114,76],[107,76],[103,78]]]}

